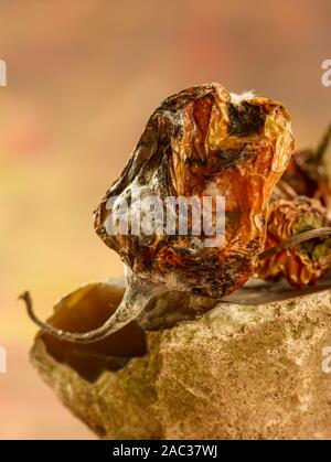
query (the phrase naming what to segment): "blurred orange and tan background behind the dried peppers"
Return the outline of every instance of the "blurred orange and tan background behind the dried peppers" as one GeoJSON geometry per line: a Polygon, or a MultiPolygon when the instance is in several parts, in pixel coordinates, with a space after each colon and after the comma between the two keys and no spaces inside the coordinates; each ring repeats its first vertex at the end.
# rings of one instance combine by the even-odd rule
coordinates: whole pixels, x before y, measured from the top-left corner
{"type": "Polygon", "coordinates": [[[297,147],[331,121],[329,0],[1,0],[0,439],[94,438],[30,366],[35,327],[54,300],[122,267],[93,229],[154,107],[220,82],[281,100],[297,147]]]}

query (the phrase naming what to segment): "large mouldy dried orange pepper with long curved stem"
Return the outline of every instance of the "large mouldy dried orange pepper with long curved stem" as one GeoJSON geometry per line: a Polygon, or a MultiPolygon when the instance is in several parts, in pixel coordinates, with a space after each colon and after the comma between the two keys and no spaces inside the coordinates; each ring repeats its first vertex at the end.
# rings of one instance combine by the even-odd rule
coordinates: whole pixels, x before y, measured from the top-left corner
{"type": "Polygon", "coordinates": [[[264,249],[268,202],[292,148],[290,117],[280,103],[229,94],[220,84],[170,96],[151,115],[95,214],[97,234],[126,267],[127,288],[117,311],[97,330],[68,333],[38,320],[25,297],[31,318],[60,339],[93,342],[142,315],[157,293],[220,299],[238,289],[253,275],[264,249]],[[185,235],[109,233],[114,214],[109,200],[132,205],[137,190],[140,198],[161,201],[225,197],[223,238],[206,246],[203,232],[192,234],[193,222],[185,235]]]}

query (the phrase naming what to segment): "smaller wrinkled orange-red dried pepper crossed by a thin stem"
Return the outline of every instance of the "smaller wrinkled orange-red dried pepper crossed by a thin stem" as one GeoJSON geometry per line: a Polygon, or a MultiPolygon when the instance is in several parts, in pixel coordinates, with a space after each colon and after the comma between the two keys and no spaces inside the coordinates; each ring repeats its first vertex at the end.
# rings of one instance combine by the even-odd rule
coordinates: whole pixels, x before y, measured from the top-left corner
{"type": "MultiPolygon", "coordinates": [[[[327,227],[327,209],[320,201],[298,197],[276,201],[268,213],[266,249],[292,236],[327,227]]],[[[285,248],[260,261],[256,276],[263,279],[285,277],[291,286],[313,284],[331,266],[331,238],[316,238],[285,248]]]]}

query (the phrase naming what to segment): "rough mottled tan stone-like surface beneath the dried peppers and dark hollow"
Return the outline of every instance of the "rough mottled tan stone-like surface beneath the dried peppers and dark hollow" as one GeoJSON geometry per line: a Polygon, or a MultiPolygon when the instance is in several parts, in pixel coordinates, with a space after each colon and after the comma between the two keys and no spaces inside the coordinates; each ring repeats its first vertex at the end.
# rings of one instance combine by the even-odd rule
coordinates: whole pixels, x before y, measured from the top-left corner
{"type": "Polygon", "coordinates": [[[147,333],[148,354],[86,382],[38,336],[31,358],[60,400],[110,439],[331,439],[331,291],[220,303],[147,333]]]}

